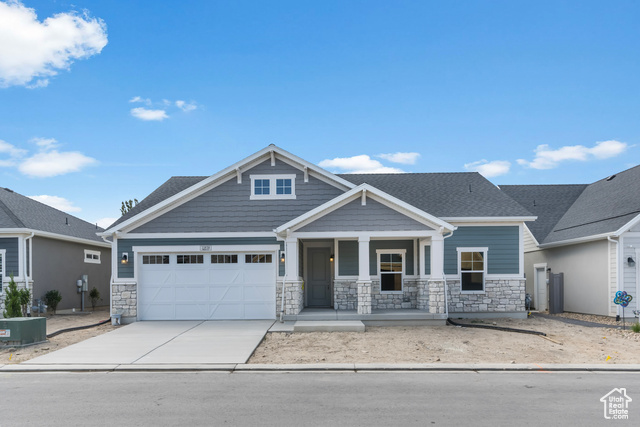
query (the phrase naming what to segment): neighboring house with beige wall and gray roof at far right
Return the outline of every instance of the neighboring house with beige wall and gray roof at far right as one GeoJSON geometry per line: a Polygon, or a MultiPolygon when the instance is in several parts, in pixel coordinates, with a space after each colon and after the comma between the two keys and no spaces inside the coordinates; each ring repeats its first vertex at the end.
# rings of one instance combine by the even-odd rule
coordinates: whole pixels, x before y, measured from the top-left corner
{"type": "Polygon", "coordinates": [[[504,185],[500,188],[538,217],[526,223],[527,292],[548,308],[548,272],[564,273],[564,310],[622,315],[617,291],[640,307],[640,166],[589,185],[504,185]]]}

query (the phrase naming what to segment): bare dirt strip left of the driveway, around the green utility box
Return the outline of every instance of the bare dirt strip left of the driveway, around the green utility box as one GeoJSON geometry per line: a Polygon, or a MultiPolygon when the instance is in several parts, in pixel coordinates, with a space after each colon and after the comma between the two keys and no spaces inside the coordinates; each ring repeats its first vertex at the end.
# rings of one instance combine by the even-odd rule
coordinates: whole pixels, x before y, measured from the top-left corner
{"type": "MultiPolygon", "coordinates": [[[[47,314],[47,335],[62,329],[93,325],[107,319],[109,319],[108,307],[96,307],[96,311],[90,314],[47,314]]],[[[0,365],[24,362],[25,360],[33,359],[34,357],[42,356],[43,354],[60,350],[68,345],[112,331],[117,327],[118,326],[111,326],[111,323],[107,323],[95,328],[65,332],[50,338],[45,343],[26,347],[0,345],[0,365]]]]}

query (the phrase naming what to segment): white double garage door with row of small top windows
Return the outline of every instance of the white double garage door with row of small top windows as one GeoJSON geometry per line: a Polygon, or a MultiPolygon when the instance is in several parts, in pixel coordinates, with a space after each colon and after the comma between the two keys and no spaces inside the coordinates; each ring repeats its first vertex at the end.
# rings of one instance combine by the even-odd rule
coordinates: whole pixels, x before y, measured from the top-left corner
{"type": "Polygon", "coordinates": [[[138,256],[140,320],[273,319],[272,253],[138,256]]]}

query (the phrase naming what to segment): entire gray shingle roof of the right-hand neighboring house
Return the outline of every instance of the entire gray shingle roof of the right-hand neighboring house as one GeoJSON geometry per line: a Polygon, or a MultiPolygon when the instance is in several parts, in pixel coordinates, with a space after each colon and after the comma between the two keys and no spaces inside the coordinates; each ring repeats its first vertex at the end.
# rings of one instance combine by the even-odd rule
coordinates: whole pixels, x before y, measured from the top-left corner
{"type": "Polygon", "coordinates": [[[541,244],[613,233],[640,215],[640,166],[588,185],[501,188],[538,215],[536,223],[527,225],[541,244]],[[541,206],[531,206],[534,196],[541,206]]]}

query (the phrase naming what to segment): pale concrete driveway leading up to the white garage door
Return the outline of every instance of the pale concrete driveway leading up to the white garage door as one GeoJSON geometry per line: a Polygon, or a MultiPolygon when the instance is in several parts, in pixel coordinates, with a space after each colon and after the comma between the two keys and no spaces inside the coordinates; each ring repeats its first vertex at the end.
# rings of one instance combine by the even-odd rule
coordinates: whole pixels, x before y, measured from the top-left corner
{"type": "Polygon", "coordinates": [[[245,363],[273,323],[273,320],[136,322],[23,364],[245,363]]]}

